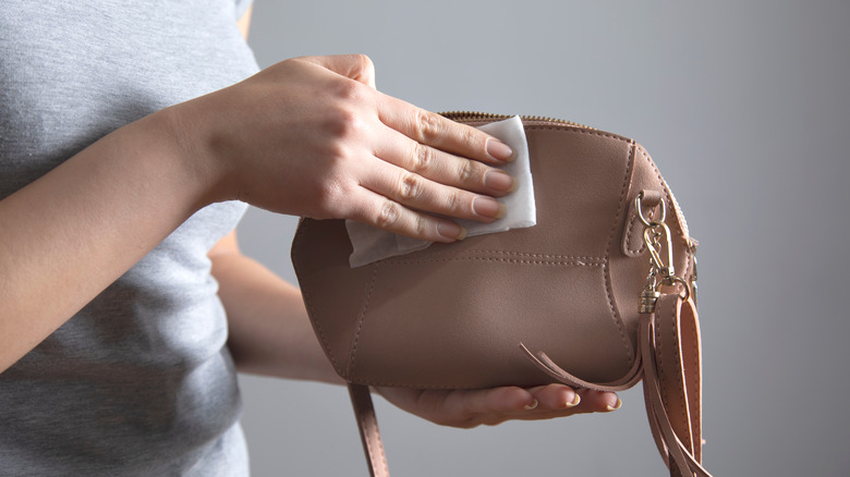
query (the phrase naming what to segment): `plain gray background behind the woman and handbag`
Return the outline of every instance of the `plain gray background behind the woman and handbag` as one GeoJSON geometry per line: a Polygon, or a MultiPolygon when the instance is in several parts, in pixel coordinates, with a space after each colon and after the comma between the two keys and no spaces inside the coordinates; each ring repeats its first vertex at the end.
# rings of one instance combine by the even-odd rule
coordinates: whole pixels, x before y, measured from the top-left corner
{"type": "MultiPolygon", "coordinates": [[[[705,463],[847,475],[850,3],[257,0],[262,65],[365,52],[421,107],[572,119],[644,144],[701,241],[705,463]],[[597,4],[598,3],[598,4],[597,4]]],[[[294,219],[244,250],[294,279],[294,219]]],[[[365,475],[341,388],[243,377],[256,476],[365,475]]],[[[441,428],[378,400],[397,476],[663,475],[638,389],[609,415],[441,428]]]]}

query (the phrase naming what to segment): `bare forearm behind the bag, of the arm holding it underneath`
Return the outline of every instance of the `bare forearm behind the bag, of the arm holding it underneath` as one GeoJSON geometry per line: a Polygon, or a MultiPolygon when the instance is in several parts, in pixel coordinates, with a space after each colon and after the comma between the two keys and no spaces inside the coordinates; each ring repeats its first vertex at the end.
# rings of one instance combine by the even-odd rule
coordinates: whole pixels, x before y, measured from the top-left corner
{"type": "Polygon", "coordinates": [[[309,323],[301,292],[241,255],[233,236],[217,245],[212,274],[230,326],[228,345],[243,372],[341,383],[309,323]]]}

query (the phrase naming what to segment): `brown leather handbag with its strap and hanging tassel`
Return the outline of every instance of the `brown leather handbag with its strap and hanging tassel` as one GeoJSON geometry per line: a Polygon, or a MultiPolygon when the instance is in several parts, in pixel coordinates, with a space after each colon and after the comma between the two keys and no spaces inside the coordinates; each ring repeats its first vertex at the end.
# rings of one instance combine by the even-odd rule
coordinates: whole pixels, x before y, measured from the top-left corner
{"type": "Polygon", "coordinates": [[[643,380],[670,475],[708,476],[696,242],[670,188],[632,139],[545,118],[523,126],[535,227],[351,268],[344,221],[299,224],[295,272],[319,342],[349,382],[369,472],[389,475],[368,386],[620,391],[643,380]]]}

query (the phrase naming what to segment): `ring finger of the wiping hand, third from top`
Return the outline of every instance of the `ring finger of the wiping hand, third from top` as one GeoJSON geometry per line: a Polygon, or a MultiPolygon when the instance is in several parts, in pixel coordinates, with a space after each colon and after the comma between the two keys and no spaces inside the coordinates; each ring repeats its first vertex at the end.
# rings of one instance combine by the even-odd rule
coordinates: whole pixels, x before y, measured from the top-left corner
{"type": "Polygon", "coordinates": [[[493,197],[450,187],[384,161],[375,161],[361,185],[409,208],[459,219],[493,222],[505,206],[493,197]]]}

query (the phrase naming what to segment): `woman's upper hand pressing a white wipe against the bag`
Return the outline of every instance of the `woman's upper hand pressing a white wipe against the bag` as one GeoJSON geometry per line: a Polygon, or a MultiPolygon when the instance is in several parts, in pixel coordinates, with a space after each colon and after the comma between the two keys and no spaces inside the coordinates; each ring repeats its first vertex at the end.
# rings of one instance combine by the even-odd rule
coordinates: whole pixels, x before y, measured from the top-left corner
{"type": "Polygon", "coordinates": [[[174,108],[214,199],[451,242],[493,221],[512,178],[499,140],[374,88],[364,56],[283,61],[174,108]],[[199,143],[196,140],[199,139],[199,143]]]}

